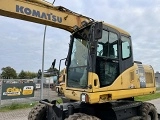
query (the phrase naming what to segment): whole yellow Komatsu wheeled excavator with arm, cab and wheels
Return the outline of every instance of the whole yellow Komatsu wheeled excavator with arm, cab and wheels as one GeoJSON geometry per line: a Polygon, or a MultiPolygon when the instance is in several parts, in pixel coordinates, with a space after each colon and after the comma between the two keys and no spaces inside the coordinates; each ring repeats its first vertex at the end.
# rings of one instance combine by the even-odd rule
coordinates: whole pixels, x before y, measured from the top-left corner
{"type": "Polygon", "coordinates": [[[28,120],[158,120],[153,104],[134,100],[156,92],[155,75],[151,65],[134,61],[125,30],[43,0],[0,0],[0,15],[71,33],[64,87],[69,101],[41,100],[28,120]]]}

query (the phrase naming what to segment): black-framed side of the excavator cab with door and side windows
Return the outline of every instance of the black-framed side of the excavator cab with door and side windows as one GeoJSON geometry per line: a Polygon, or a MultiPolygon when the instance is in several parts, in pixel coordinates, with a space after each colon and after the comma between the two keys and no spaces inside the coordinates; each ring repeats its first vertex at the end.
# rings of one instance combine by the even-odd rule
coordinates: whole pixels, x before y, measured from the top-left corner
{"type": "Polygon", "coordinates": [[[133,65],[130,36],[103,26],[102,38],[97,41],[96,74],[100,86],[111,85],[127,68],[133,65]]]}

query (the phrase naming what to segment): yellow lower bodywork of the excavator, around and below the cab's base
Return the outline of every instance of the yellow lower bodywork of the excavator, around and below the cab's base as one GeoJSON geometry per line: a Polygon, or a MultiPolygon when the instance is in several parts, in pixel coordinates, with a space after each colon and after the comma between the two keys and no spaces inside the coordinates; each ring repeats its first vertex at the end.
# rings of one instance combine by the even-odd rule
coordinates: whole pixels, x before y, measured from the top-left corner
{"type": "MultiPolygon", "coordinates": [[[[149,66],[144,66],[144,71],[153,74],[153,69],[149,66]]],[[[80,100],[81,93],[86,93],[89,95],[89,102],[92,103],[102,103],[117,99],[129,98],[139,95],[152,94],[155,93],[156,88],[154,83],[146,83],[146,88],[140,88],[140,73],[138,72],[137,64],[124,71],[117,79],[110,85],[100,88],[100,83],[97,74],[88,74],[88,85],[91,88],[88,89],[75,89],[67,88],[65,96],[80,100]],[[94,81],[96,80],[96,86],[94,81]]],[[[154,75],[152,75],[154,76],[154,75]]],[[[150,77],[154,79],[153,77],[150,77]]]]}

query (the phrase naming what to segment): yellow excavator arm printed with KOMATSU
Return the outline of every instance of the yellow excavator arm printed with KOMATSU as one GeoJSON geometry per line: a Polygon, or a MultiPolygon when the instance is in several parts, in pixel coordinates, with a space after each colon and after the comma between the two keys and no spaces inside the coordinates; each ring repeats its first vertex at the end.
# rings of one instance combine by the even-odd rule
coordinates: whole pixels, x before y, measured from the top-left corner
{"type": "Polygon", "coordinates": [[[69,32],[82,21],[93,19],[77,14],[62,6],[53,6],[42,0],[0,0],[0,15],[40,23],[69,32]]]}

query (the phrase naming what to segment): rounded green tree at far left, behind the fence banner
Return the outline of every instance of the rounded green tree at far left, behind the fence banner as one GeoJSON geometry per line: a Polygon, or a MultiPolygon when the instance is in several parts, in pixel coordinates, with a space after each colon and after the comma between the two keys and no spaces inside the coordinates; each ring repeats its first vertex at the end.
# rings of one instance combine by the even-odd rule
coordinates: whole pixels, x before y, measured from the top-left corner
{"type": "Polygon", "coordinates": [[[11,68],[10,66],[3,67],[1,77],[5,79],[15,79],[17,78],[16,70],[11,68]]]}

